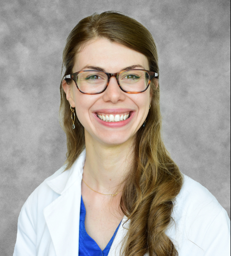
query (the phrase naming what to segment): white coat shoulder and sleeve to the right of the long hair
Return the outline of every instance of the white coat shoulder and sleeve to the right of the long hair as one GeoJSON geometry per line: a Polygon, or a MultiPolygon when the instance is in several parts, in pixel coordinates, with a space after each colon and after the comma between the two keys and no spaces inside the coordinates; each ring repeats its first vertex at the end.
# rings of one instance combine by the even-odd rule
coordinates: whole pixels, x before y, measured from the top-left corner
{"type": "Polygon", "coordinates": [[[211,244],[214,244],[214,251],[223,251],[230,239],[227,212],[207,188],[187,175],[183,174],[183,178],[172,213],[174,223],[168,235],[177,241],[182,252],[180,255],[185,255],[189,249],[192,255],[202,255],[202,251],[211,250],[211,244]]]}

